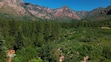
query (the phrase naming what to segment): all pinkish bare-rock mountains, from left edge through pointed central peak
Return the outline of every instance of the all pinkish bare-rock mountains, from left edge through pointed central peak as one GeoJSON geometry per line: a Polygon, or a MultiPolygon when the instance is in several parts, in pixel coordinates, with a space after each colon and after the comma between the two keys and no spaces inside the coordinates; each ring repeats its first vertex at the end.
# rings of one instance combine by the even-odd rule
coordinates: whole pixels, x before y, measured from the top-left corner
{"type": "Polygon", "coordinates": [[[59,9],[50,9],[30,3],[23,3],[22,0],[0,0],[0,11],[14,15],[30,15],[38,18],[72,18],[80,20],[76,12],[64,6],[59,9]],[[7,10],[8,9],[8,10],[7,10]]]}

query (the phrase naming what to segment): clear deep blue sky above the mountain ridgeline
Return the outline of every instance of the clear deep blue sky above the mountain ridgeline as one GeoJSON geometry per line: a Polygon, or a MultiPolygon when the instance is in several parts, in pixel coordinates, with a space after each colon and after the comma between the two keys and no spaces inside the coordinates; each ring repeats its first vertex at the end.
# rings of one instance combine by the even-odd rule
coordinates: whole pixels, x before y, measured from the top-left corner
{"type": "Polygon", "coordinates": [[[24,2],[49,7],[51,9],[68,6],[75,11],[91,11],[98,7],[105,8],[111,5],[111,0],[24,0],[24,2]]]}

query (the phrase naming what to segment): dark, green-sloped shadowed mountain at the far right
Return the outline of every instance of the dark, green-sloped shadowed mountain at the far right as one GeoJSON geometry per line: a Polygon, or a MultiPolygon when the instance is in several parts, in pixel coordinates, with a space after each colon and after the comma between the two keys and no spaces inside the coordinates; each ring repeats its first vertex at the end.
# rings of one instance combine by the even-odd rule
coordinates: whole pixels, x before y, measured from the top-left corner
{"type": "Polygon", "coordinates": [[[108,6],[107,8],[96,8],[88,13],[86,18],[88,20],[107,20],[111,17],[111,6],[108,6]]]}

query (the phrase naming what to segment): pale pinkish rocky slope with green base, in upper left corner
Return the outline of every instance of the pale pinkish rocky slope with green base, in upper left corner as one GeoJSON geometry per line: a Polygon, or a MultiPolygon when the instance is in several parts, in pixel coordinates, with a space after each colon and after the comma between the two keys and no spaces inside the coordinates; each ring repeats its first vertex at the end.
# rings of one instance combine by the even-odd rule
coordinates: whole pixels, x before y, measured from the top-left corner
{"type": "Polygon", "coordinates": [[[0,0],[0,10],[4,13],[15,15],[26,15],[26,10],[22,7],[22,0],[0,0]]]}

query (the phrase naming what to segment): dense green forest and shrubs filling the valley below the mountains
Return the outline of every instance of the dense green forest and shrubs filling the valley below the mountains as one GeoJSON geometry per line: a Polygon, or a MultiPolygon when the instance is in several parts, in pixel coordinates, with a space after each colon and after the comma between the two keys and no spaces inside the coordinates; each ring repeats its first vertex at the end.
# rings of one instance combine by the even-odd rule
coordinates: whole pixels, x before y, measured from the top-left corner
{"type": "Polygon", "coordinates": [[[111,20],[22,21],[0,18],[0,62],[6,51],[14,49],[13,62],[111,61],[111,20]],[[101,28],[107,27],[107,28],[101,28]],[[109,29],[108,29],[109,28],[109,29]]]}

